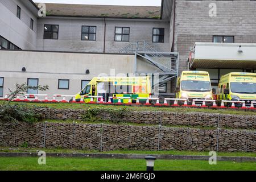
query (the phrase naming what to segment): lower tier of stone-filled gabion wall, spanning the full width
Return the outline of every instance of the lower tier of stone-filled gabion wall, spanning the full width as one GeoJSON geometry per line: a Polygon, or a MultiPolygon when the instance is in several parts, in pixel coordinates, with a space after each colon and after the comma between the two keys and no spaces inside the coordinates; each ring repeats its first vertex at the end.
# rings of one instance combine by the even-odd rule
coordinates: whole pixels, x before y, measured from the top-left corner
{"type": "Polygon", "coordinates": [[[0,146],[82,150],[192,150],[255,152],[255,130],[0,122],[0,146]],[[46,129],[46,130],[45,130],[46,129]],[[44,132],[46,131],[46,132],[44,132]],[[218,135],[218,136],[217,136],[218,135]],[[44,140],[45,139],[45,140],[44,140]]]}

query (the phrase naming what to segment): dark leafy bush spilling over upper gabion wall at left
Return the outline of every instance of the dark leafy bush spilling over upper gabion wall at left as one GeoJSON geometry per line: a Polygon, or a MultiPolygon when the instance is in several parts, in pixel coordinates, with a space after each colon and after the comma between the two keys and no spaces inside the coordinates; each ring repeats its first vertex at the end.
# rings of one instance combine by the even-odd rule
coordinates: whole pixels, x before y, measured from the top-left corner
{"type": "Polygon", "coordinates": [[[19,105],[2,105],[0,107],[0,121],[28,122],[42,121],[42,117],[34,111],[19,105]]]}

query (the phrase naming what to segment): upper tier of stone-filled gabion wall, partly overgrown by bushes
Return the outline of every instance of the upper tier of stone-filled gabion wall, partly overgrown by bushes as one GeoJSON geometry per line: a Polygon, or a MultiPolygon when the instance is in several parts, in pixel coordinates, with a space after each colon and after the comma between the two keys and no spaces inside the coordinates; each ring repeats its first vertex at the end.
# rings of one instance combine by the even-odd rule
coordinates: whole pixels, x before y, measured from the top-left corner
{"type": "MultiPolygon", "coordinates": [[[[76,119],[81,120],[86,110],[71,109],[34,109],[36,113],[42,115],[44,119],[76,119]]],[[[204,126],[204,127],[228,127],[231,129],[256,129],[255,115],[231,115],[202,112],[157,112],[157,111],[129,111],[122,117],[99,111],[97,118],[110,121],[143,123],[148,125],[182,125],[182,126],[204,126]]]]}

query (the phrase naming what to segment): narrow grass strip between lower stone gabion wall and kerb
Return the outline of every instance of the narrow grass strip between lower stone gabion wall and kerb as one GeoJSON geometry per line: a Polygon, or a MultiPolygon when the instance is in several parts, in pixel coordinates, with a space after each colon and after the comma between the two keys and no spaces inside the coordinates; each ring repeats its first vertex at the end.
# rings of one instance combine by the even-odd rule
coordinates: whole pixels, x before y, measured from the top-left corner
{"type": "MultiPolygon", "coordinates": [[[[63,148],[26,148],[26,147],[0,147],[0,152],[37,152],[45,151],[46,153],[75,153],[75,154],[162,154],[162,155],[209,155],[209,151],[139,151],[139,150],[114,150],[108,152],[72,150],[63,148]]],[[[256,152],[217,152],[218,156],[247,156],[256,157],[256,152]]]]}

